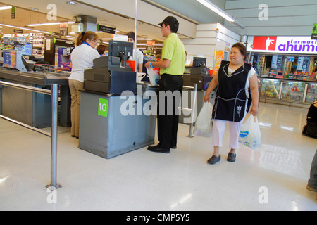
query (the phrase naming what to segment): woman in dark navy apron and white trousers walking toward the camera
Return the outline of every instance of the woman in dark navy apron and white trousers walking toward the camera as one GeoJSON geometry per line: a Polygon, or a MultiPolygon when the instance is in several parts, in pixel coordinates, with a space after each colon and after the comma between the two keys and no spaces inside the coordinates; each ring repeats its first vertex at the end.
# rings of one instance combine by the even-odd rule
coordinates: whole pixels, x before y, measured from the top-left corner
{"type": "Polygon", "coordinates": [[[209,164],[220,161],[219,149],[223,145],[226,122],[229,122],[230,128],[230,152],[227,160],[235,162],[241,125],[251,101],[253,105],[250,113],[256,115],[259,111],[258,79],[254,68],[244,63],[246,57],[245,46],[240,43],[234,44],[230,52],[230,62],[221,62],[218,73],[214,75],[204,96],[204,101],[208,102],[211,91],[218,84],[213,105],[213,156],[207,161],[209,164]]]}

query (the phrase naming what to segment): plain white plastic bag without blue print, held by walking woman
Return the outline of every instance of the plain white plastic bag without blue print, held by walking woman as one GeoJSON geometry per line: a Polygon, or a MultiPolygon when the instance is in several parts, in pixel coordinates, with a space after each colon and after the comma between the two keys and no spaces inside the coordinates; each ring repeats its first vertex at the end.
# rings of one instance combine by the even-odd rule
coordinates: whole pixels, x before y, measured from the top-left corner
{"type": "Polygon", "coordinates": [[[194,127],[194,135],[211,137],[213,134],[213,123],[211,120],[213,113],[213,105],[210,102],[204,103],[197,117],[194,127]]]}

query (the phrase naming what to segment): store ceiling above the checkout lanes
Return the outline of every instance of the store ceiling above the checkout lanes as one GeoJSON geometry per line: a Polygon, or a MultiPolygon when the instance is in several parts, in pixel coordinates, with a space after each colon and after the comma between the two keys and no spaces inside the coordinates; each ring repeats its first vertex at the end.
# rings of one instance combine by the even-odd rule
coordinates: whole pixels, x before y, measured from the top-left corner
{"type": "MultiPolygon", "coordinates": [[[[54,1],[54,4],[57,6],[57,21],[72,21],[72,18],[75,15],[91,15],[97,18],[97,23],[100,25],[115,27],[116,30],[120,31],[120,34],[126,34],[131,30],[135,30],[134,18],[109,11],[107,8],[99,8],[86,4],[84,1],[75,1],[77,2],[77,6],[70,6],[69,4],[66,4],[66,1],[68,0],[54,1]]],[[[0,6],[15,6],[16,10],[15,19],[11,19],[10,9],[0,11],[0,23],[41,31],[59,32],[59,25],[49,25],[45,27],[27,26],[28,24],[51,22],[47,19],[47,14],[51,10],[48,6],[51,2],[51,0],[1,0],[0,6]],[[37,8],[37,10],[35,11],[30,8],[37,8]]],[[[148,0],[146,2],[148,2],[148,0]]],[[[223,22],[220,16],[211,12],[195,0],[152,0],[149,2],[150,4],[159,4],[159,7],[162,7],[165,11],[180,13],[180,16],[183,16],[183,18],[193,20],[194,23],[197,24],[223,22]],[[188,10],[188,8],[190,8],[190,10],[188,10]]],[[[225,6],[225,0],[216,0],[213,2],[218,4],[220,7],[224,8],[225,6]]],[[[132,8],[132,11],[135,11],[135,8],[132,8]]],[[[13,32],[12,27],[2,27],[0,29],[4,32],[4,34],[13,32]]],[[[24,32],[30,32],[30,30],[24,30],[24,32]]],[[[98,33],[98,35],[100,38],[104,39],[111,38],[111,34],[107,33],[98,33]]],[[[147,21],[139,21],[137,23],[137,35],[138,37],[154,39],[156,44],[161,44],[164,41],[164,38],[161,36],[161,28],[159,25],[151,25],[150,23],[147,23],[147,21]]],[[[138,40],[137,43],[144,44],[144,41],[138,40]]]]}

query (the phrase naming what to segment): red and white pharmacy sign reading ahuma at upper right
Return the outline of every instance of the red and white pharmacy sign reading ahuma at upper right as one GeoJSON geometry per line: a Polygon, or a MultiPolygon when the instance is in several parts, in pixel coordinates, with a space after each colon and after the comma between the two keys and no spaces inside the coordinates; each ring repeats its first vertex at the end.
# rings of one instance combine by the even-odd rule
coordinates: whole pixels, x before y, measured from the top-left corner
{"type": "Polygon", "coordinates": [[[317,40],[310,36],[248,37],[247,51],[260,53],[317,54],[317,40]]]}

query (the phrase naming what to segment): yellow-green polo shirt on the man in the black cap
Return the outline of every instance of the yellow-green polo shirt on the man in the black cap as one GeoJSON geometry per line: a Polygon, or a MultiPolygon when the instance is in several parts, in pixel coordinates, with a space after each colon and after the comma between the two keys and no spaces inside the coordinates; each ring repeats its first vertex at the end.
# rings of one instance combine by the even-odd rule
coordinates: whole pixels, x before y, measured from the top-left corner
{"type": "Polygon", "coordinates": [[[178,34],[171,33],[164,41],[162,49],[162,60],[170,60],[168,68],[162,68],[160,74],[183,75],[185,70],[185,47],[178,38],[178,34]]]}

